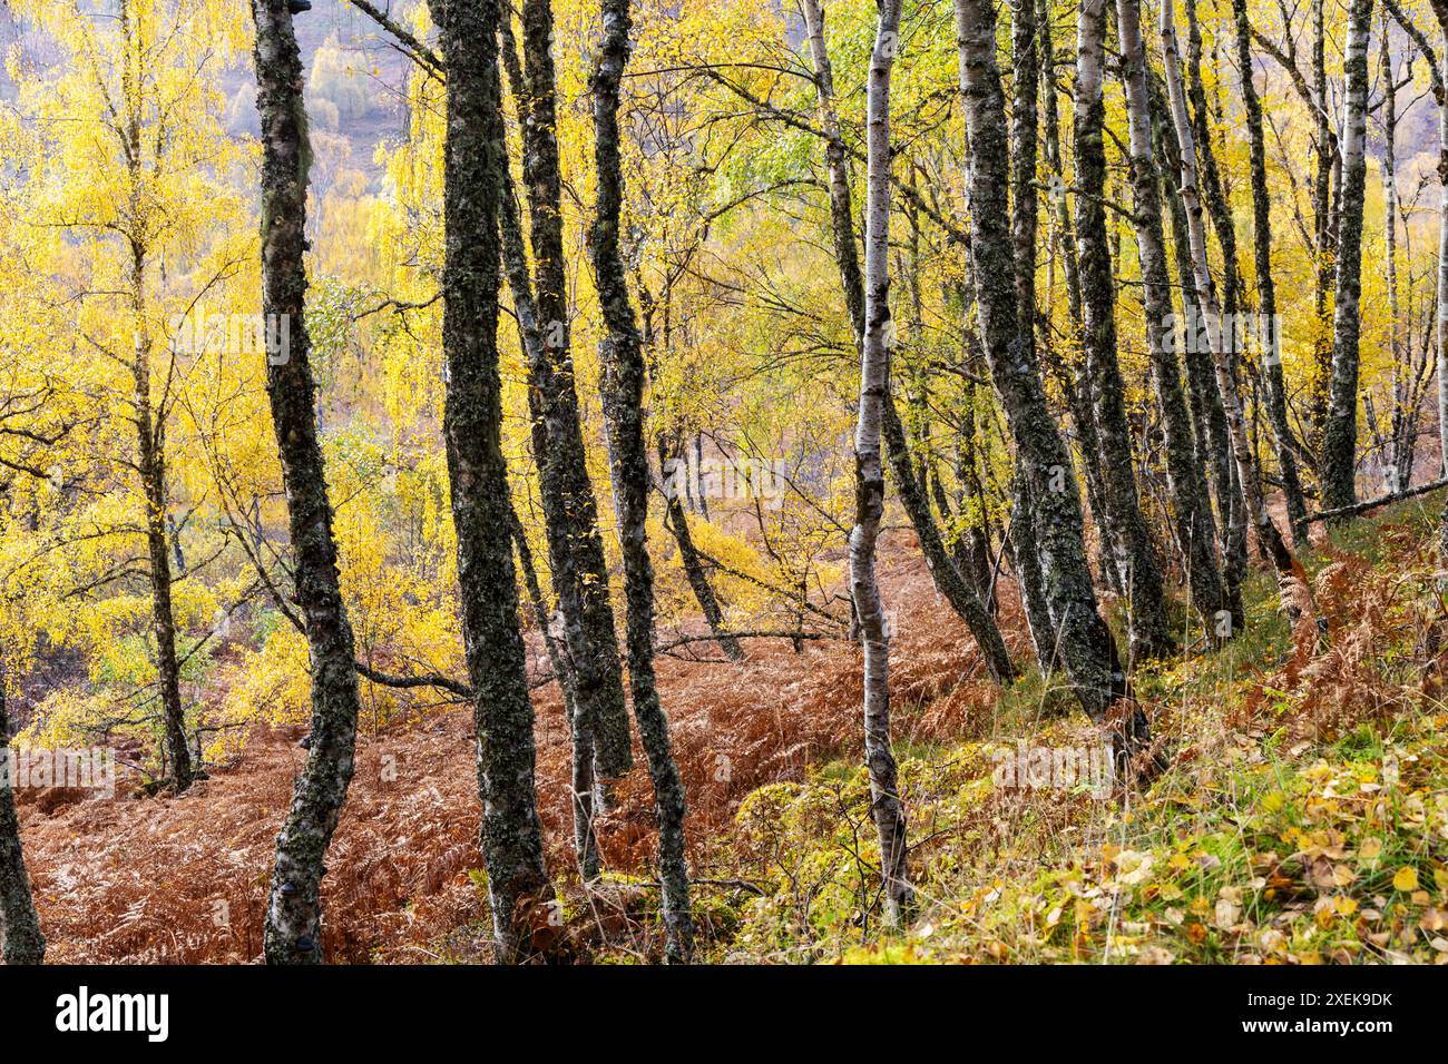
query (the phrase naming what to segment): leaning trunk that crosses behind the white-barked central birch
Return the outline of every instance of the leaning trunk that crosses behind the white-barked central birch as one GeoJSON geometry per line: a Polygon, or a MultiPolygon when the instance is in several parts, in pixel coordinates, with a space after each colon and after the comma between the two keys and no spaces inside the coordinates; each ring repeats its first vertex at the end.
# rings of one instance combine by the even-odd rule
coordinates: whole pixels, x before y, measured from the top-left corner
{"type": "MultiPolygon", "coordinates": [[[[840,122],[834,107],[834,74],[824,41],[824,12],[818,0],[802,0],[802,10],[809,39],[809,52],[815,67],[815,88],[821,124],[827,135],[825,165],[830,174],[830,217],[834,230],[835,263],[840,271],[840,284],[844,288],[846,308],[850,314],[856,342],[859,343],[867,326],[866,303],[869,294],[860,276],[860,261],[851,229],[853,206],[849,156],[844,151],[844,142],[840,139],[840,122]]],[[[1001,630],[986,609],[985,602],[982,602],[980,595],[946,550],[935,517],[930,508],[930,495],[911,462],[905,427],[895,408],[895,398],[889,391],[886,391],[882,401],[880,420],[888,462],[891,473],[895,478],[895,491],[899,494],[901,505],[919,539],[921,553],[925,556],[925,565],[930,569],[935,589],[946,596],[956,615],[966,622],[966,627],[976,640],[976,646],[980,647],[990,675],[1001,683],[1009,683],[1015,679],[1015,666],[1011,663],[1005,640],[1001,637],[1001,630]]]]}

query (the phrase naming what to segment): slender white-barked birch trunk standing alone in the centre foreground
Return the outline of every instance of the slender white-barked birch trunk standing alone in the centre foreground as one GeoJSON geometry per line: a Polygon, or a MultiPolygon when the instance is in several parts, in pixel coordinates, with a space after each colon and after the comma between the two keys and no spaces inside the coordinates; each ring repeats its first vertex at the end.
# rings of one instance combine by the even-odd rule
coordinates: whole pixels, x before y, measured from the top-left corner
{"type": "MultiPolygon", "coordinates": [[[[870,54],[867,83],[864,229],[864,334],[860,356],[860,407],[854,428],[854,528],[850,533],[850,591],[864,644],[864,763],[870,776],[872,814],[880,841],[885,919],[908,919],[914,892],[891,748],[889,633],[875,552],[885,514],[885,468],[880,436],[891,391],[889,216],[891,216],[891,69],[899,48],[901,0],[883,0],[870,54]]],[[[914,472],[909,473],[914,481],[914,472]]]]}

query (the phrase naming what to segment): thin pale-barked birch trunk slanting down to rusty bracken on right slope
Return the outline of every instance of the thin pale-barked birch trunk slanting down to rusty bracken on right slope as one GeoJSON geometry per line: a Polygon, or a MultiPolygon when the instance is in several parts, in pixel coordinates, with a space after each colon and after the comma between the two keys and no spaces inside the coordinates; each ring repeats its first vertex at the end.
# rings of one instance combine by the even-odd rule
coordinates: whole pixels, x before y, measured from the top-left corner
{"type": "MultiPolygon", "coordinates": [[[[1167,94],[1171,104],[1171,119],[1176,124],[1177,148],[1182,164],[1182,201],[1187,213],[1187,237],[1192,245],[1192,266],[1196,281],[1197,303],[1205,310],[1209,321],[1219,321],[1221,311],[1216,303],[1216,292],[1212,290],[1212,278],[1206,261],[1206,227],[1202,219],[1202,198],[1196,185],[1196,143],[1192,135],[1192,124],[1186,111],[1186,91],[1182,83],[1182,68],[1177,58],[1176,23],[1173,17],[1174,0],[1164,0],[1161,4],[1161,55],[1166,68],[1167,94]]],[[[1216,369],[1216,387],[1222,395],[1222,407],[1226,414],[1226,426],[1231,433],[1232,459],[1237,468],[1237,479],[1247,504],[1247,511],[1253,515],[1257,527],[1258,544],[1277,570],[1281,588],[1281,604],[1289,617],[1296,618],[1295,598],[1290,594],[1287,580],[1293,578],[1293,557],[1283,543],[1281,533],[1273,524],[1267,512],[1267,502],[1263,498],[1261,479],[1253,460],[1251,443],[1247,437],[1247,421],[1242,415],[1241,400],[1237,394],[1237,381],[1232,373],[1231,350],[1224,343],[1221,329],[1206,329],[1206,342],[1212,352],[1212,362],[1216,369]]],[[[1190,342],[1190,340],[1189,340],[1190,342]]]]}

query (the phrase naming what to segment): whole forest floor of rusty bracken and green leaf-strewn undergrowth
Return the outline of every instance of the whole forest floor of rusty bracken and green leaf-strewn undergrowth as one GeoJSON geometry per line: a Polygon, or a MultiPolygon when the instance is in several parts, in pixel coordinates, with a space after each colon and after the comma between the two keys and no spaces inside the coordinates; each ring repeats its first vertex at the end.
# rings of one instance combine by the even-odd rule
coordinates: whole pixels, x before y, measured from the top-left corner
{"type": "MultiPolygon", "coordinates": [[[[1441,507],[1438,494],[1413,499],[1321,540],[1303,559],[1310,608],[1296,630],[1258,575],[1245,636],[1138,669],[1166,763],[1145,789],[1063,777],[1064,751],[1099,767],[1093,728],[1035,675],[1001,695],[896,534],[882,586],[918,890],[904,931],[879,926],[857,651],[760,641],[743,664],[662,659],[702,958],[1448,963],[1441,507]],[[1018,785],[1005,766],[1025,767],[1018,785]]],[[[1003,598],[1024,659],[1019,608],[1003,598]]],[[[584,890],[571,874],[556,689],[537,705],[543,825],[566,918],[555,948],[653,960],[641,753],[602,822],[605,883],[584,890]]],[[[182,798],[26,795],[48,960],[256,960],[301,734],[258,727],[236,764],[182,798]]],[[[487,957],[472,746],[460,706],[363,727],[327,857],[333,960],[487,957]]]]}

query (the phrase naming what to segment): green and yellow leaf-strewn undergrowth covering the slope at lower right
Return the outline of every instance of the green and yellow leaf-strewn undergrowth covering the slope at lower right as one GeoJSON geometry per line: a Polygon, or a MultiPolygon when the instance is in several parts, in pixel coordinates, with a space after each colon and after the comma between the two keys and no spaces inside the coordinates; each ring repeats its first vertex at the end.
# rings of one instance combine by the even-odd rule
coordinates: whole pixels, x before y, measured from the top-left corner
{"type": "Polygon", "coordinates": [[[1402,505],[1319,541],[1295,628],[1255,578],[1226,649],[1138,672],[1167,759],[1145,789],[1002,786],[1018,741],[1099,741],[1038,675],[979,740],[905,746],[908,926],[879,922],[862,767],[754,790],[727,873],[750,889],[727,895],[737,919],[708,958],[1448,963],[1438,512],[1402,505]]]}

